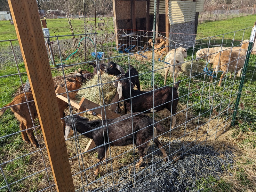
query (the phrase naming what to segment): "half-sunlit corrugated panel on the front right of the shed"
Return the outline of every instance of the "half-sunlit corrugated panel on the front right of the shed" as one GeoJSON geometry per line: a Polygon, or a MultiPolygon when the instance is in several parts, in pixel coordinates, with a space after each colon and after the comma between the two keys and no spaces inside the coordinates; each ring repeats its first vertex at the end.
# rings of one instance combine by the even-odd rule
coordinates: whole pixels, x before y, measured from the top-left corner
{"type": "Polygon", "coordinates": [[[196,2],[170,1],[169,22],[170,25],[194,21],[196,17],[196,2]]]}

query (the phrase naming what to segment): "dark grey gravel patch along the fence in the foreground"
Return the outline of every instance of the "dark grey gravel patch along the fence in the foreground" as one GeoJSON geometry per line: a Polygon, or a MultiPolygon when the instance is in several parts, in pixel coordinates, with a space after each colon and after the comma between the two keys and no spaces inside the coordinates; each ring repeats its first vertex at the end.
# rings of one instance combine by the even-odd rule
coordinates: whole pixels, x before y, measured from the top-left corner
{"type": "MultiPolygon", "coordinates": [[[[204,188],[200,188],[198,183],[202,183],[202,178],[206,180],[209,176],[220,179],[220,175],[228,168],[232,168],[233,154],[226,150],[220,157],[220,153],[213,150],[212,147],[197,146],[193,150],[184,154],[179,160],[166,163],[161,161],[153,165],[153,170],[156,171],[152,176],[152,159],[147,158],[148,165],[145,171],[136,175],[136,183],[133,184],[133,174],[122,176],[115,188],[115,191],[127,192],[169,192],[169,191],[184,191],[184,192],[200,192],[204,188]],[[129,179],[130,178],[130,179],[129,179]],[[128,180],[127,180],[128,179],[128,180]],[[200,180],[200,181],[199,181],[200,180]],[[199,181],[199,182],[198,182],[199,181]],[[131,185],[131,186],[130,186],[131,185]],[[134,187],[132,187],[134,186],[134,187]],[[199,189],[198,189],[199,188],[199,189]]],[[[155,158],[155,157],[154,157],[155,158]]],[[[157,161],[160,159],[156,159],[157,161]]],[[[128,173],[127,170],[122,170],[122,173],[128,173]]],[[[232,176],[231,173],[229,173],[232,176]]],[[[125,174],[124,174],[125,175],[125,174]]],[[[214,185],[211,179],[206,183],[206,187],[214,185]]],[[[114,191],[107,188],[96,190],[114,191]]]]}

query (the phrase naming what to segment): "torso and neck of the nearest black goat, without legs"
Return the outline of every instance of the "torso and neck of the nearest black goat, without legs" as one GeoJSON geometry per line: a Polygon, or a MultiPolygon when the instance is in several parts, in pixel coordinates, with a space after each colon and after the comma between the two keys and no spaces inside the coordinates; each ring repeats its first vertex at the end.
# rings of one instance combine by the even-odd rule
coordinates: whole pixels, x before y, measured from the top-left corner
{"type": "MultiPolygon", "coordinates": [[[[145,114],[133,113],[132,118],[131,114],[125,114],[115,119],[107,119],[108,131],[106,126],[103,129],[96,129],[102,126],[101,120],[84,121],[81,119],[78,115],[74,116],[76,130],[80,133],[93,130],[91,134],[96,145],[106,143],[109,140],[110,145],[125,146],[133,143],[133,137],[137,145],[138,143],[143,144],[153,137],[153,120],[145,114]]],[[[103,125],[106,125],[106,121],[103,121],[103,125]]],[[[154,127],[156,128],[154,130],[155,136],[157,136],[157,132],[163,132],[161,125],[155,123],[154,127]]],[[[85,134],[85,136],[87,135],[85,134]]]]}

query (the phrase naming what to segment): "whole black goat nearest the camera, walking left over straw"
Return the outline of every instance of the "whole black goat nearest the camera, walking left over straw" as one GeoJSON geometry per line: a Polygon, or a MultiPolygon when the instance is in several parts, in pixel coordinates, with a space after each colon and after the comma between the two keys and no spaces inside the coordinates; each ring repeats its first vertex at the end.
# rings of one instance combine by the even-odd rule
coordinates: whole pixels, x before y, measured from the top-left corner
{"type": "MultiPolygon", "coordinates": [[[[136,114],[138,113],[133,113],[134,116],[132,118],[131,114],[126,114],[115,119],[107,119],[107,126],[104,126],[103,128],[102,120],[89,121],[89,119],[81,117],[79,115],[74,116],[74,122],[76,125],[76,130],[79,133],[84,133],[85,137],[93,139],[93,141],[96,144],[96,147],[100,146],[97,148],[98,163],[100,163],[102,159],[106,157],[105,153],[107,153],[108,150],[108,141],[110,145],[125,146],[133,144],[134,137],[134,144],[138,146],[140,154],[140,160],[136,164],[136,166],[139,167],[143,161],[143,157],[145,156],[145,149],[148,146],[147,142],[153,138],[153,133],[154,143],[162,151],[164,160],[166,161],[167,155],[164,151],[163,145],[156,138],[158,136],[158,132],[163,132],[162,126],[158,123],[154,123],[153,126],[153,120],[149,116],[145,114],[136,114]],[[105,146],[103,144],[105,144],[105,146]]],[[[104,125],[106,125],[106,121],[103,121],[104,125]]],[[[65,139],[67,139],[68,134],[72,129],[71,116],[65,119],[65,124],[65,139]]],[[[96,166],[93,176],[98,176],[99,171],[100,164],[96,166]]]]}

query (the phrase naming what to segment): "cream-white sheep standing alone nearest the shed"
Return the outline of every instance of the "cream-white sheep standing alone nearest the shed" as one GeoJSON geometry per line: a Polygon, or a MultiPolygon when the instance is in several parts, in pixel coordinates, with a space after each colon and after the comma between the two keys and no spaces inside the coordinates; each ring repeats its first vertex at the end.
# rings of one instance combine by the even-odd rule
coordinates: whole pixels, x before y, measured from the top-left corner
{"type": "Polygon", "coordinates": [[[164,85],[166,85],[166,79],[170,70],[170,77],[172,77],[173,71],[174,71],[174,82],[176,82],[176,78],[178,78],[179,73],[179,63],[184,62],[184,58],[187,57],[187,50],[185,48],[182,48],[181,46],[176,49],[170,50],[167,54],[167,56],[164,59],[164,85]],[[175,61],[175,62],[174,62],[175,61]],[[167,64],[168,63],[168,64],[167,64]],[[175,63],[175,64],[174,64],[175,63]],[[175,67],[174,67],[175,66],[175,67]]]}

